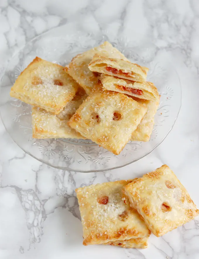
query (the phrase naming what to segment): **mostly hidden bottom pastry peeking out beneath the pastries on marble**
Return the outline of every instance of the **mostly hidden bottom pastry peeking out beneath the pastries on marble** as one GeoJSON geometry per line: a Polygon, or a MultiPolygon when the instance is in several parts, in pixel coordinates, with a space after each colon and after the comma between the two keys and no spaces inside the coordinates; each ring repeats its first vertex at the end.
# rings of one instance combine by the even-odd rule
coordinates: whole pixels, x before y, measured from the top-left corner
{"type": "Polygon", "coordinates": [[[128,240],[116,240],[114,242],[107,242],[103,245],[110,245],[110,246],[120,246],[124,248],[147,248],[148,247],[148,237],[142,238],[132,238],[128,240]]]}

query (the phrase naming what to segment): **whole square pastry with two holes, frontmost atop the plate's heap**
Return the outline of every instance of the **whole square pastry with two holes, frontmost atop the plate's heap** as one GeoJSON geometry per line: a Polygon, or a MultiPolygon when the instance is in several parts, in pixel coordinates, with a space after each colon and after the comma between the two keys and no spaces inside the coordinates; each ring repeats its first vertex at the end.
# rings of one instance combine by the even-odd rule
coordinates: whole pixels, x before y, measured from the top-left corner
{"type": "Polygon", "coordinates": [[[118,155],[147,108],[125,94],[98,84],[68,122],[82,136],[118,155]]]}

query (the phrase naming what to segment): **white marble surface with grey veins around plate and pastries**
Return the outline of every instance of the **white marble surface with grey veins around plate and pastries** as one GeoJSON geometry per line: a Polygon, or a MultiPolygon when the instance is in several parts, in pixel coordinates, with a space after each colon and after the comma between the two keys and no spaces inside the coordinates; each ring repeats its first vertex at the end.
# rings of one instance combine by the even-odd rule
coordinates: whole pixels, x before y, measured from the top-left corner
{"type": "Polygon", "coordinates": [[[0,75],[19,48],[51,28],[75,23],[82,31],[131,34],[153,40],[179,73],[182,107],[174,128],[152,153],[121,169],[100,173],[50,168],[25,154],[0,122],[0,258],[198,259],[199,218],[147,249],[83,246],[75,188],[140,177],[168,164],[199,207],[199,3],[198,0],[0,0],[0,75]]]}

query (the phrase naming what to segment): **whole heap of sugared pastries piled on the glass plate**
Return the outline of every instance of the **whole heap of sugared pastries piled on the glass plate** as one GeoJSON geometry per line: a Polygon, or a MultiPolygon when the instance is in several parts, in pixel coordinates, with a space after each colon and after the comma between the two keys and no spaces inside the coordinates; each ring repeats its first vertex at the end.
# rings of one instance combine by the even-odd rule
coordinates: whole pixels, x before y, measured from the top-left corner
{"type": "Polygon", "coordinates": [[[91,139],[118,155],[150,139],[159,94],[147,71],[104,42],[65,68],[36,57],[10,94],[33,106],[33,138],[91,139]]]}

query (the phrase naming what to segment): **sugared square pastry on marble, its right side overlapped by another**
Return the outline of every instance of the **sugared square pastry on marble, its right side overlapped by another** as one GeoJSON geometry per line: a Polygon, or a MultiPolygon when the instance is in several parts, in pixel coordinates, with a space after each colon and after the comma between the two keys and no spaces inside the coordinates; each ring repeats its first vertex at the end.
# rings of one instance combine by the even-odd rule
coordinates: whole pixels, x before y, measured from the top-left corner
{"type": "Polygon", "coordinates": [[[84,245],[150,235],[138,212],[122,199],[122,188],[131,181],[107,182],[76,189],[84,245]]]}

